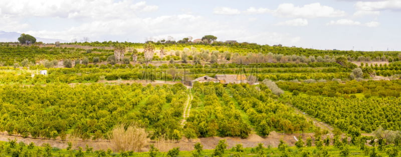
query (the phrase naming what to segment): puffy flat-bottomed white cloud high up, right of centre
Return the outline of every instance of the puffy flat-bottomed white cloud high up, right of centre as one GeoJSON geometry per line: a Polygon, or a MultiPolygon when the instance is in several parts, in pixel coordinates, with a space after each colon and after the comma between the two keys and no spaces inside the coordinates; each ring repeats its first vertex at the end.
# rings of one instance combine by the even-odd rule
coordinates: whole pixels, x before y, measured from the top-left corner
{"type": "Polygon", "coordinates": [[[320,3],[311,3],[300,6],[294,6],[292,3],[282,3],[277,9],[273,10],[273,14],[284,17],[339,17],[344,16],[345,11],[334,9],[333,7],[321,5],[320,3]]]}

